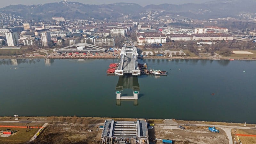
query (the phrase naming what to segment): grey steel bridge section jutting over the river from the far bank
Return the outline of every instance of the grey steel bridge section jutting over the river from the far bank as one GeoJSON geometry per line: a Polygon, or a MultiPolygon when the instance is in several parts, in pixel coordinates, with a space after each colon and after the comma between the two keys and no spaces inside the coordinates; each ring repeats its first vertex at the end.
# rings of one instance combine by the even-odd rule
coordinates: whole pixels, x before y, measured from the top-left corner
{"type": "Polygon", "coordinates": [[[115,75],[123,76],[124,74],[132,74],[132,76],[140,75],[138,52],[137,47],[135,47],[134,44],[124,44],[122,47],[120,53],[120,64],[115,71],[115,75]]]}

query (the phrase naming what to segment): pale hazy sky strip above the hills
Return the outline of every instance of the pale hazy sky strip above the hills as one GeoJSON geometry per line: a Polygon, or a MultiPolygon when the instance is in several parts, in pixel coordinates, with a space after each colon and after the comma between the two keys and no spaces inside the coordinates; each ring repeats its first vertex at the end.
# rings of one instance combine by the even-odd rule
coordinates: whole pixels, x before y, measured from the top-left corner
{"type": "MultiPolygon", "coordinates": [[[[52,3],[52,2],[60,2],[61,0],[7,0],[1,3],[0,8],[5,7],[7,5],[14,5],[14,4],[45,4],[45,3],[52,3]]],[[[185,3],[203,3],[209,2],[213,0],[67,0],[71,2],[80,2],[83,4],[111,4],[117,2],[125,2],[125,3],[136,3],[140,4],[141,6],[145,6],[148,4],[185,4],[185,3]]]]}

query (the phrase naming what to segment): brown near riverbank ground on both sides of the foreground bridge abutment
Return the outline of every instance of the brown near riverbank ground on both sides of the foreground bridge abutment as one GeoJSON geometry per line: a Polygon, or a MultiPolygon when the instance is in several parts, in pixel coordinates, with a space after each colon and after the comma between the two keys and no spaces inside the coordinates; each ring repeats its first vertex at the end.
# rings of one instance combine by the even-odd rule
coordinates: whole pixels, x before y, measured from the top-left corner
{"type": "MultiPolygon", "coordinates": [[[[33,134],[36,139],[31,143],[50,143],[60,141],[61,143],[92,143],[98,144],[101,140],[102,131],[99,126],[103,125],[105,119],[115,121],[136,121],[138,118],[112,118],[112,117],[77,117],[77,116],[26,116],[26,117],[0,117],[0,125],[10,130],[18,130],[10,138],[0,138],[0,142],[25,143],[33,134]],[[19,126],[42,126],[44,130],[38,135],[36,130],[20,128],[19,126]],[[26,136],[26,139],[25,137],[26,136]],[[60,139],[61,137],[61,139],[60,139]],[[14,140],[16,140],[14,142],[14,140]]],[[[225,122],[204,122],[204,121],[183,121],[175,119],[147,119],[147,122],[154,124],[148,129],[148,138],[151,143],[162,144],[162,139],[171,139],[175,143],[229,143],[237,142],[234,139],[239,135],[243,143],[255,143],[256,139],[248,137],[256,132],[254,124],[225,123],[225,122]],[[180,129],[182,126],[184,129],[180,129]],[[219,133],[209,132],[208,127],[216,127],[219,133]],[[241,136],[245,135],[245,136],[241,136]],[[247,136],[248,135],[248,136],[247,136]]],[[[31,139],[31,140],[32,140],[31,139]]],[[[30,140],[30,141],[31,141],[30,140]]]]}

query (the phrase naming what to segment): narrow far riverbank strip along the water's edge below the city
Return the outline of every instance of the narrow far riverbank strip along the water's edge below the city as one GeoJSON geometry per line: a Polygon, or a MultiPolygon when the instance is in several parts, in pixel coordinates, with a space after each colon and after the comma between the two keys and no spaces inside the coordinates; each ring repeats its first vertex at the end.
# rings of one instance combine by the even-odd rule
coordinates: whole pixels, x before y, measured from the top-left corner
{"type": "MultiPolygon", "coordinates": [[[[10,57],[2,56],[0,59],[120,59],[117,56],[80,56],[80,57],[62,57],[62,56],[51,56],[51,57],[42,57],[42,56],[29,56],[29,57],[10,57]]],[[[147,56],[139,57],[138,59],[184,59],[184,60],[229,60],[228,57],[159,57],[159,56],[147,56]]],[[[256,58],[232,58],[234,60],[256,60],[256,58]]]]}

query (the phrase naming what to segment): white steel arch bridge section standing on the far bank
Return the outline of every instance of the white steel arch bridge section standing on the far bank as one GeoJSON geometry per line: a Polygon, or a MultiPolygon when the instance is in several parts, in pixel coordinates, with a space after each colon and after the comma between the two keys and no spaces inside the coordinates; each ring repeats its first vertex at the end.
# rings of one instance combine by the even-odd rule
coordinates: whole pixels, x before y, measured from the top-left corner
{"type": "Polygon", "coordinates": [[[66,47],[63,47],[56,52],[104,52],[106,49],[93,45],[93,44],[73,44],[66,47]],[[76,47],[76,48],[72,48],[76,47]]]}

